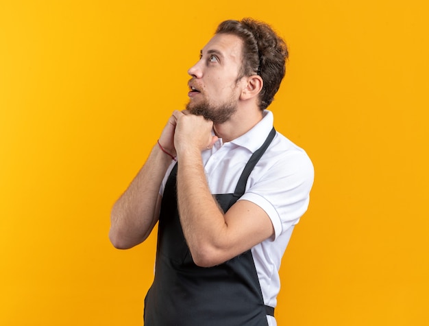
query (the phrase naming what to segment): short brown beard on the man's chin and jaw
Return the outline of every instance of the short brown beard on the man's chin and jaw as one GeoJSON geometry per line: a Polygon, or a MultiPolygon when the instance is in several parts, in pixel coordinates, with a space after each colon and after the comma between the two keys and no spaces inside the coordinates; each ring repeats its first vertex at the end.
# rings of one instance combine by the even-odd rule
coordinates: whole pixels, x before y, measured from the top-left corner
{"type": "Polygon", "coordinates": [[[202,115],[204,119],[213,121],[213,124],[223,124],[236,113],[237,106],[232,99],[219,105],[211,104],[206,100],[200,103],[193,103],[191,100],[186,104],[186,110],[193,115],[202,115]]]}

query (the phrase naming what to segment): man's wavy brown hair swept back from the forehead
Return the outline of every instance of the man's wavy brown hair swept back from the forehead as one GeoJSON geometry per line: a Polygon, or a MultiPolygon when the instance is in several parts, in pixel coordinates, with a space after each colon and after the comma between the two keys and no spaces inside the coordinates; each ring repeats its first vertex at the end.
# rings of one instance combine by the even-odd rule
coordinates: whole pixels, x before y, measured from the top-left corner
{"type": "Polygon", "coordinates": [[[273,102],[286,72],[286,43],[269,25],[250,18],[223,21],[217,27],[216,34],[233,34],[243,40],[240,78],[244,75],[260,75],[264,86],[259,94],[259,107],[264,110],[273,102]]]}

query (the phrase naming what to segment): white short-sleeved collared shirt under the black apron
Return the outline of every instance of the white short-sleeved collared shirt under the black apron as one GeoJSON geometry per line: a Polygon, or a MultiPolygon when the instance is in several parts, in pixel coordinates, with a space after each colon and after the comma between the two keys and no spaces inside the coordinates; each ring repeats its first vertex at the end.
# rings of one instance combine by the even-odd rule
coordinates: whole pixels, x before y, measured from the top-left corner
{"type": "MultiPolygon", "coordinates": [[[[273,114],[265,110],[262,120],[251,130],[228,143],[219,139],[211,150],[201,153],[212,194],[232,194],[250,156],[264,143],[273,128],[273,114]]],[[[174,166],[172,162],[161,192],[174,166]]],[[[269,148],[254,167],[239,200],[261,207],[273,223],[275,235],[252,248],[265,305],[275,307],[280,291],[278,270],[293,226],[308,207],[314,170],[306,152],[276,133],[269,148]]],[[[275,318],[267,316],[269,326],[275,318]]]]}

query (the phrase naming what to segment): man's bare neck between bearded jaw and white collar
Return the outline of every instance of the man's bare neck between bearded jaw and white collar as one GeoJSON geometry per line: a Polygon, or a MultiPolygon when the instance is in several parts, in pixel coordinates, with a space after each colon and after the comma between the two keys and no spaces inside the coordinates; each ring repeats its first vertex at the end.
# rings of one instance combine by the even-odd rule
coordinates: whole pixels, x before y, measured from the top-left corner
{"type": "Polygon", "coordinates": [[[222,139],[223,143],[227,143],[244,135],[256,126],[260,120],[262,120],[262,111],[259,108],[256,110],[238,109],[225,123],[215,124],[213,130],[215,130],[215,135],[222,139]]]}

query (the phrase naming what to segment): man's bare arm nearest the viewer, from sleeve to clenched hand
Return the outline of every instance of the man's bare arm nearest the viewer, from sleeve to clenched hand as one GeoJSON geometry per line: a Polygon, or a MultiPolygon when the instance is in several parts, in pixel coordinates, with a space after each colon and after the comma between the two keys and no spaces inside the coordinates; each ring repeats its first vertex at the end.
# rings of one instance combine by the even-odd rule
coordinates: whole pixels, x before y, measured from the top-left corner
{"type": "Polygon", "coordinates": [[[247,200],[236,202],[227,213],[219,209],[204,174],[201,150],[210,147],[212,124],[202,117],[174,113],[177,199],[180,222],[195,264],[215,266],[247,251],[273,235],[267,213],[247,200]]]}

